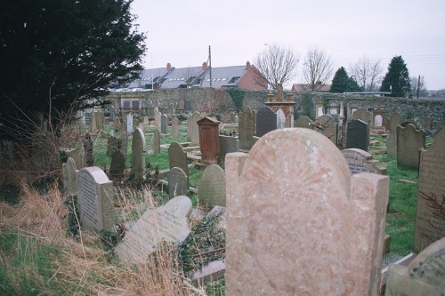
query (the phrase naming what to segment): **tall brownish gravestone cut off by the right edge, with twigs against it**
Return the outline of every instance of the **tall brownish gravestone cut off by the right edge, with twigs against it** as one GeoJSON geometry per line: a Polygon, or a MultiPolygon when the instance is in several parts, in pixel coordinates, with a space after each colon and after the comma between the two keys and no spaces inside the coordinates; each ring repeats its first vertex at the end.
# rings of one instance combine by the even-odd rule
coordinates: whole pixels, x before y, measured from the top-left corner
{"type": "Polygon", "coordinates": [[[445,130],[422,150],[418,174],[414,252],[445,236],[445,130]]]}

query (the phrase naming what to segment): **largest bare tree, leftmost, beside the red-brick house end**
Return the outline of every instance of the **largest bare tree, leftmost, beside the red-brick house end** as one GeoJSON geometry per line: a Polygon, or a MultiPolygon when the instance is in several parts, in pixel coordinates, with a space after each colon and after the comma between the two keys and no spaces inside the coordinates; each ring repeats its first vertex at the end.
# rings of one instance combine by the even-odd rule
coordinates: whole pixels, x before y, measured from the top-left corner
{"type": "Polygon", "coordinates": [[[267,48],[255,56],[253,69],[259,78],[258,84],[263,87],[269,84],[272,89],[278,90],[295,77],[298,54],[279,44],[266,45],[267,48]]]}

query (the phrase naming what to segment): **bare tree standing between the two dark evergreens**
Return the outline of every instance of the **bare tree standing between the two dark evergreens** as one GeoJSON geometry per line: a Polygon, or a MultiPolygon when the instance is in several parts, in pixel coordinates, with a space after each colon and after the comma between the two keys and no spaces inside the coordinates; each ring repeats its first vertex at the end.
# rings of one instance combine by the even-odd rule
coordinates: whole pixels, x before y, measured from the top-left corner
{"type": "Polygon", "coordinates": [[[367,57],[350,66],[349,72],[355,77],[363,92],[374,92],[378,90],[382,80],[381,60],[371,60],[367,57]]]}

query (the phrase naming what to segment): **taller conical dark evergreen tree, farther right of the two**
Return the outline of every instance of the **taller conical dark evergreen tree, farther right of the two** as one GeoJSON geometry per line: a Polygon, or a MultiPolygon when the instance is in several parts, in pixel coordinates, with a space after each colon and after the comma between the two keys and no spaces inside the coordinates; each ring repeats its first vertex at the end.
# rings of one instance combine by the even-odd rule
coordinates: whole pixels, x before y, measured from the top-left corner
{"type": "Polygon", "coordinates": [[[380,92],[391,92],[392,97],[406,97],[411,89],[409,70],[401,56],[392,58],[384,76],[380,92]]]}

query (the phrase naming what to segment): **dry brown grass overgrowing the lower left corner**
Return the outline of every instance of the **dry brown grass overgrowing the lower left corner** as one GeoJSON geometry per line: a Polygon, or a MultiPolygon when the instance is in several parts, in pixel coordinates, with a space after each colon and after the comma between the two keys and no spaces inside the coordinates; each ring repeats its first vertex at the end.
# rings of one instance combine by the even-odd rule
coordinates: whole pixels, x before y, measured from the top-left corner
{"type": "MultiPolygon", "coordinates": [[[[39,245],[55,245],[57,254],[51,254],[45,260],[51,260],[53,275],[43,278],[34,264],[28,268],[13,268],[5,252],[0,250],[0,268],[8,270],[13,291],[20,291],[20,280],[26,278],[34,281],[39,291],[45,295],[55,295],[51,286],[69,295],[205,295],[190,285],[179,272],[177,253],[174,248],[159,250],[146,264],[126,266],[112,263],[109,253],[103,251],[100,237],[82,231],[81,241],[67,236],[68,213],[64,198],[56,186],[45,195],[36,190],[22,186],[22,201],[18,206],[0,203],[0,236],[2,233],[15,231],[21,238],[29,238],[27,244],[17,250],[17,254],[28,256],[38,261],[39,245]],[[31,254],[31,256],[29,256],[31,254]],[[25,275],[26,274],[26,275],[25,275]],[[184,284],[185,281],[185,284],[184,284]]],[[[147,200],[147,204],[153,203],[147,200]]],[[[126,197],[120,204],[120,211],[131,211],[136,207],[131,198],[126,197]]]]}

